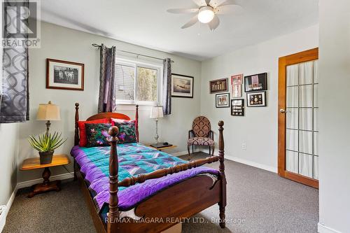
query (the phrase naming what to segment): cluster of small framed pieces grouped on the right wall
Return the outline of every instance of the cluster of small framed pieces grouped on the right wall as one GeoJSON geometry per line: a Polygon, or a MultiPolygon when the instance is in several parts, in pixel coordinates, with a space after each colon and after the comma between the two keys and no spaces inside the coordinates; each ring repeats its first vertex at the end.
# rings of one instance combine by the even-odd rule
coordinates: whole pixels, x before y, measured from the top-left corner
{"type": "Polygon", "coordinates": [[[211,80],[209,91],[215,94],[216,108],[230,108],[231,115],[244,116],[245,107],[267,106],[267,73],[232,75],[230,82],[229,78],[211,80]]]}

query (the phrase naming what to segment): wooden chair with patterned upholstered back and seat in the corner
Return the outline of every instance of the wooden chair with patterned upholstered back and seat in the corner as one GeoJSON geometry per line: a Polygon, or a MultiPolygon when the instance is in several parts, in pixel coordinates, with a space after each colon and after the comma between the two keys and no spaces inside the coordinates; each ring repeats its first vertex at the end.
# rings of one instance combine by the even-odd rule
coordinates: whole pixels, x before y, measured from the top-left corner
{"type": "Polygon", "coordinates": [[[211,130],[210,121],[204,116],[193,120],[192,129],[188,131],[188,160],[190,160],[190,146],[209,146],[209,155],[214,155],[214,132],[211,130]]]}

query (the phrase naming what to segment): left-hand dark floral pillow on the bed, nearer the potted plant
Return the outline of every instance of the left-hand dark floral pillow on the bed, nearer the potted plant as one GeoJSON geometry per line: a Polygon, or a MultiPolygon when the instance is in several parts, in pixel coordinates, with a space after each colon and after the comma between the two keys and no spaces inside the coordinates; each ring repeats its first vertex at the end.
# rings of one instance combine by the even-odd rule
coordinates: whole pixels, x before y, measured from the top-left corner
{"type": "Polygon", "coordinates": [[[111,124],[85,124],[86,147],[109,146],[109,128],[111,124]]]}

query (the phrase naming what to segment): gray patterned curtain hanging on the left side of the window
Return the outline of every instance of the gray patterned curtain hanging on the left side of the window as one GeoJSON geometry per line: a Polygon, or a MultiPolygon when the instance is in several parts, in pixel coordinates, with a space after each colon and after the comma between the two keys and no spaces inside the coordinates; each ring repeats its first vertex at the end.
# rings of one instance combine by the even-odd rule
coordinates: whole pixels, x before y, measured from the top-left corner
{"type": "Polygon", "coordinates": [[[99,67],[99,113],[116,111],[114,78],[116,69],[116,46],[100,48],[99,67]]]}

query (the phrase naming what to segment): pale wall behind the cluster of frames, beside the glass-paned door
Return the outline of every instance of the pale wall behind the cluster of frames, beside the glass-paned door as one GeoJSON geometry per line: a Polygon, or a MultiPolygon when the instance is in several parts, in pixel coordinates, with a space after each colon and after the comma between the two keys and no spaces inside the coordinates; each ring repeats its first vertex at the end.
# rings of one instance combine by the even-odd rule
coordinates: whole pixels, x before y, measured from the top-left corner
{"type": "MultiPolygon", "coordinates": [[[[201,113],[214,123],[224,120],[226,157],[276,172],[279,57],[317,46],[318,25],[315,25],[202,62],[201,113]],[[230,80],[234,74],[264,72],[267,72],[267,107],[246,107],[243,118],[231,116],[230,108],[215,107],[215,94],[209,94],[209,80],[230,80]],[[242,149],[242,143],[246,144],[246,150],[242,149]]],[[[243,85],[242,98],[246,106],[243,85]]]]}

